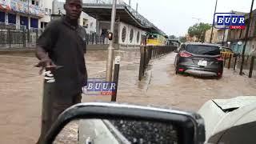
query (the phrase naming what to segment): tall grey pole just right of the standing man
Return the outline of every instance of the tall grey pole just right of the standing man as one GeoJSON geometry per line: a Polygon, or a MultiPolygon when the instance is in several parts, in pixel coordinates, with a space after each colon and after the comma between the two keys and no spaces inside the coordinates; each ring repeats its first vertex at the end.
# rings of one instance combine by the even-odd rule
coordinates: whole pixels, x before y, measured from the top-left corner
{"type": "Polygon", "coordinates": [[[112,14],[111,14],[111,26],[110,32],[113,34],[112,40],[110,40],[110,46],[108,47],[108,59],[106,63],[106,82],[112,81],[112,70],[113,70],[113,58],[114,58],[114,25],[115,25],[115,14],[116,14],[117,0],[113,0],[112,14]]]}

